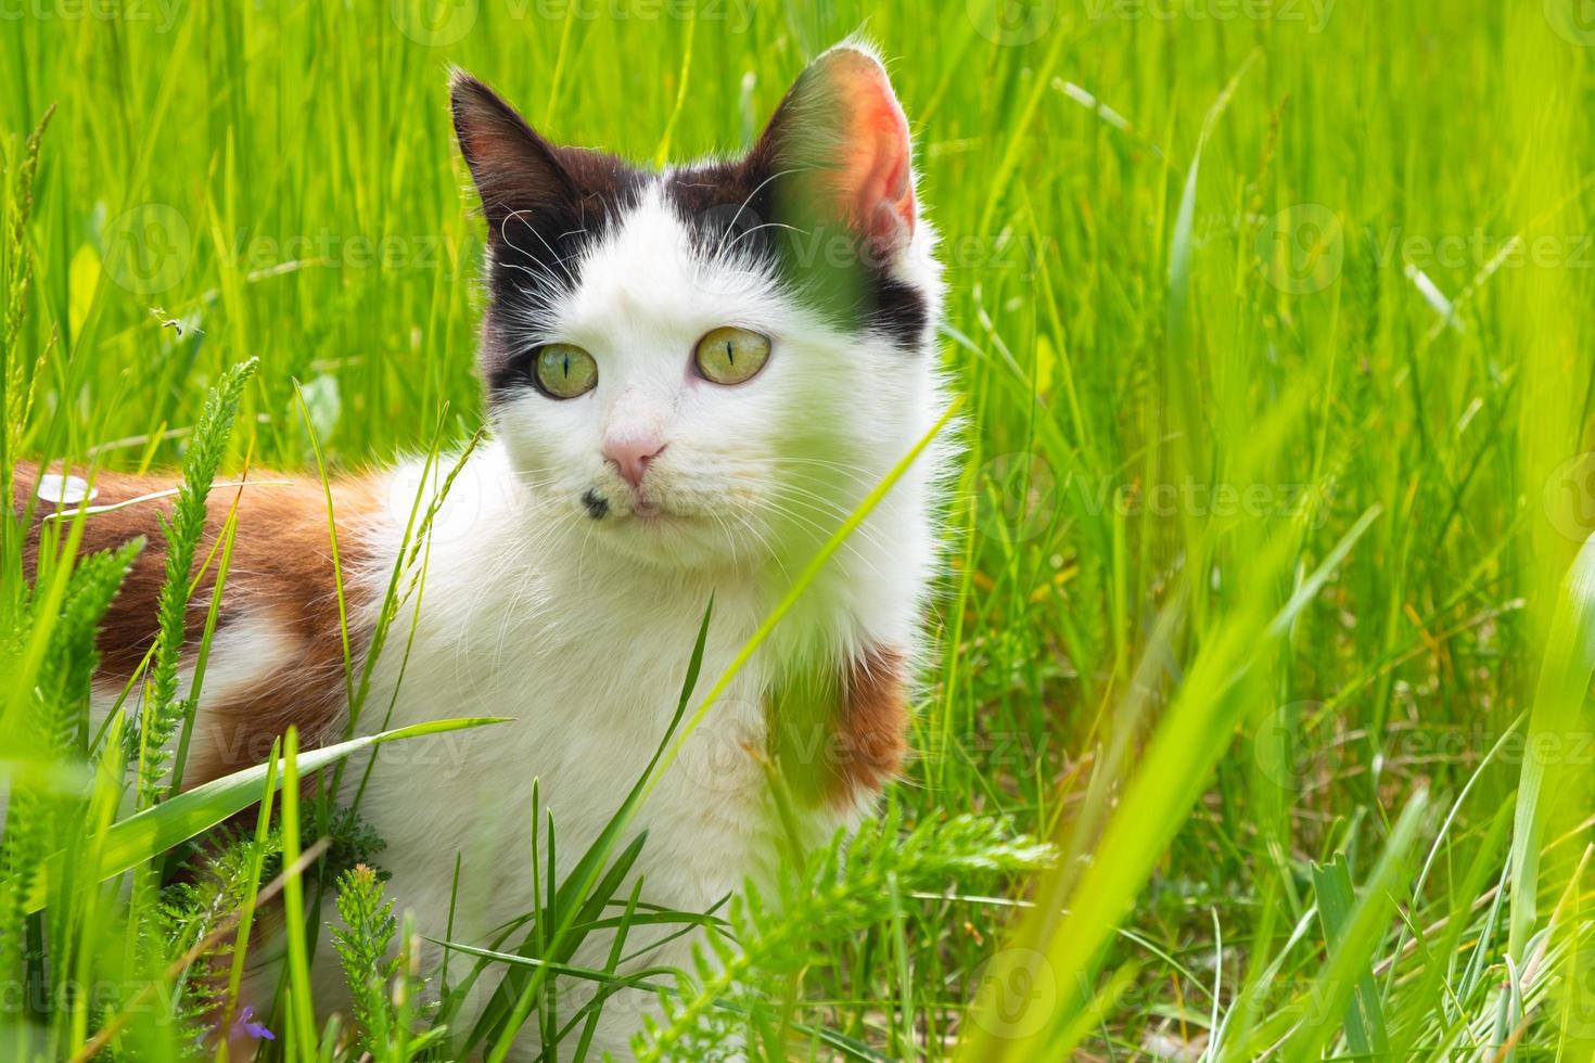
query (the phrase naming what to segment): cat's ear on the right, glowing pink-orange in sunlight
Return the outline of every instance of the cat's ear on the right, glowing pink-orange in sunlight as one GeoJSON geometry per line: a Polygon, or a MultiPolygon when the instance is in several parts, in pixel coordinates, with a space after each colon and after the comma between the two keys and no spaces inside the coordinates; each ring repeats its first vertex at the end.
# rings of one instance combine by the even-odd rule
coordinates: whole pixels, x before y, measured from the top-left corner
{"type": "Polygon", "coordinates": [[[860,45],[837,45],[809,64],[751,159],[775,182],[788,218],[839,220],[887,258],[914,237],[908,118],[885,67],[860,45]]]}

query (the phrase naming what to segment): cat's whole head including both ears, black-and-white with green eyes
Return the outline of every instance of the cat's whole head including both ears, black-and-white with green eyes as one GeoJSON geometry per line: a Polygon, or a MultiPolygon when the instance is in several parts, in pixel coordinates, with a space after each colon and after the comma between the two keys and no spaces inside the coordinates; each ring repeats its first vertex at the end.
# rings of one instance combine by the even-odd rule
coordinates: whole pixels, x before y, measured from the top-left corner
{"type": "Polygon", "coordinates": [[[879,64],[839,51],[746,159],[664,174],[552,148],[456,84],[490,225],[496,432],[534,497],[614,550],[801,561],[930,422],[939,277],[908,127],[879,64]],[[836,163],[783,193],[815,123],[836,163]]]}

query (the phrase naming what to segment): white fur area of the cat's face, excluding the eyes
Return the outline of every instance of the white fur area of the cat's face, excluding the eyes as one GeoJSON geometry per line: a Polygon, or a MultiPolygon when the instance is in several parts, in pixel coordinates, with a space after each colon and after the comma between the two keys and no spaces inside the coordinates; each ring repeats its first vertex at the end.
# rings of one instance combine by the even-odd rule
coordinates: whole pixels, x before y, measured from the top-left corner
{"type": "Polygon", "coordinates": [[[930,402],[925,354],[839,331],[750,257],[697,247],[657,186],[517,341],[573,344],[597,367],[573,398],[501,397],[517,469],[605,542],[673,564],[812,551],[912,446],[930,402]],[[699,368],[700,341],[726,327],[769,341],[746,381],[699,368]]]}

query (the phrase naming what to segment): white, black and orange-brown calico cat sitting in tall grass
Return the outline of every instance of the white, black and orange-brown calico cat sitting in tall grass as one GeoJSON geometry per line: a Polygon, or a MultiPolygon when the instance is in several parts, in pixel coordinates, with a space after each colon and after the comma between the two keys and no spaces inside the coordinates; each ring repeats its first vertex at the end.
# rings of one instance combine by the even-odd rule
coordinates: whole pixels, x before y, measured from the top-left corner
{"type": "MultiPolygon", "coordinates": [[[[665,736],[710,601],[695,696],[938,421],[943,279],[908,120],[857,41],[807,65],[729,161],[654,172],[557,147],[463,72],[451,116],[486,222],[490,438],[447,492],[447,469],[408,462],[335,480],[332,510],[359,671],[412,507],[442,497],[419,607],[397,612],[354,730],[512,722],[384,747],[359,811],[418,931],[485,947],[533,907],[533,784],[563,877],[665,736]]],[[[805,841],[869,814],[906,752],[952,451],[938,440],[908,469],[686,739],[628,827],[648,832],[633,870],[644,902],[703,912],[777,872],[793,827],[770,765],[805,841]]],[[[250,478],[209,500],[199,556],[234,497],[238,531],[187,786],[258,763],[289,725],[306,746],[349,730],[324,488],[250,478]]],[[[37,480],[22,470],[14,505],[37,480]]],[[[102,473],[94,504],[171,483],[102,473]]],[[[83,550],[150,542],[105,618],[97,703],[153,641],[166,505],[85,523],[83,550]]],[[[195,588],[195,642],[212,579],[195,588]]],[[[314,979],[335,1002],[327,937],[314,979]]],[[[646,959],[684,964],[687,948],[646,959]]],[[[589,940],[574,963],[603,966],[606,951],[589,940]]],[[[429,945],[427,966],[439,958],[429,945]]],[[[612,1001],[593,1047],[628,1053],[636,1007],[612,1001]]],[[[536,1052],[534,1026],[517,1055],[536,1052]]]]}

